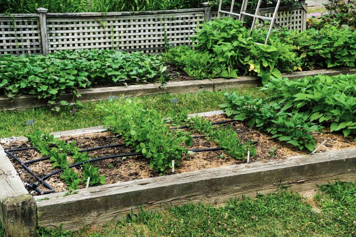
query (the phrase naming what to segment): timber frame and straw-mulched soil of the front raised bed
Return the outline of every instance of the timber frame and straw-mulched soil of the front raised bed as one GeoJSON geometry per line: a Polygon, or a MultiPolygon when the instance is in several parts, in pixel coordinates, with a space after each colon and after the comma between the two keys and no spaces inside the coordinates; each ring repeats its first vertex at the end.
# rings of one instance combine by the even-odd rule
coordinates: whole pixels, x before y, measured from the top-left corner
{"type": "MultiPolygon", "coordinates": [[[[222,114],[209,118],[212,121],[228,120],[222,114]]],[[[103,224],[113,218],[123,218],[131,211],[141,210],[141,205],[144,208],[162,209],[165,205],[183,204],[187,201],[218,204],[234,196],[253,196],[256,195],[256,192],[266,194],[279,188],[302,191],[314,188],[315,184],[325,184],[335,179],[351,181],[356,178],[356,142],[344,138],[342,134],[314,134],[318,144],[324,139],[327,141],[316,154],[308,155],[309,152],[303,152],[285,142],[270,139],[267,134],[250,129],[245,123],[228,122],[224,124],[231,125],[231,128],[241,138],[241,142],[245,142],[247,139],[258,141],[256,157],[251,156],[251,163],[235,160],[226,154],[221,156],[222,150],[195,152],[189,155],[188,160],[185,159],[187,157],[183,157],[180,166],[175,167],[175,174],[167,173],[167,175],[155,177],[158,174],[152,172],[148,168],[147,160],[143,160],[140,156],[126,157],[125,159],[117,157],[93,162],[95,166],[100,167],[100,174],[106,174],[108,184],[79,189],[78,193],[71,195],[68,195],[67,191],[60,192],[66,185],[61,184],[59,177],[52,176],[46,181],[59,192],[36,196],[33,199],[23,188],[20,179],[26,182],[35,180],[12,158],[10,159],[12,159],[15,168],[11,163],[10,166],[9,158],[0,151],[0,161],[1,164],[4,164],[2,167],[8,169],[8,171],[3,170],[5,175],[0,176],[0,182],[6,184],[4,185],[5,194],[0,196],[4,210],[2,220],[5,220],[4,215],[14,215],[11,218],[12,220],[15,218],[15,224],[18,221],[27,221],[26,225],[21,225],[21,228],[27,231],[31,228],[33,231],[37,223],[27,219],[37,220],[40,226],[59,227],[63,224],[64,229],[78,230],[87,225],[103,224]],[[276,148],[273,151],[274,157],[268,156],[268,153],[271,154],[269,149],[273,147],[276,148]],[[21,200],[8,197],[17,195],[22,195],[21,200]],[[21,207],[13,204],[19,202],[23,203],[21,207]],[[38,215],[33,213],[36,206],[38,215]],[[25,211],[29,215],[16,216],[16,213],[25,211]]],[[[90,132],[90,130],[87,131],[90,132]]],[[[200,134],[193,131],[193,135],[200,134]]],[[[81,149],[122,142],[119,138],[110,138],[110,136],[112,134],[105,131],[82,135],[67,134],[61,139],[66,141],[75,139],[77,146],[81,149]]],[[[31,146],[31,144],[19,141],[4,148],[7,150],[26,146],[31,146]]],[[[192,146],[187,148],[205,149],[216,146],[212,141],[195,138],[192,146]]],[[[111,147],[88,153],[95,158],[122,152],[132,152],[132,150],[128,147],[111,147]]],[[[40,157],[35,149],[11,151],[11,153],[16,154],[22,162],[40,157]]],[[[38,172],[37,174],[42,176],[51,172],[52,167],[48,161],[41,161],[32,165],[31,169],[34,173],[38,172]]],[[[84,186],[80,185],[81,188],[84,186]]],[[[40,186],[40,188],[43,187],[40,186]]],[[[8,230],[11,230],[10,226],[14,227],[15,225],[9,221],[3,223],[9,223],[8,230]]],[[[14,227],[14,230],[16,228],[14,227]]]]}

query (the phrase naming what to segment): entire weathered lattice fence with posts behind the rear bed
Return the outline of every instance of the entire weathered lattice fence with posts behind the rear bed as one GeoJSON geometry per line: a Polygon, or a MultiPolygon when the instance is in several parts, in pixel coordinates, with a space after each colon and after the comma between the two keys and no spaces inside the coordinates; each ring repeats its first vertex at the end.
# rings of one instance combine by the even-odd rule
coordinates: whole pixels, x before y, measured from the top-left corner
{"type": "MultiPolygon", "coordinates": [[[[289,29],[305,29],[304,5],[279,7],[276,23],[289,29]]],[[[45,10],[38,10],[39,14],[0,14],[0,53],[46,55],[62,49],[91,48],[157,53],[167,43],[192,44],[189,37],[203,23],[204,16],[213,20],[217,15],[206,8],[105,15],[45,10]]],[[[273,10],[267,7],[260,13],[272,16],[273,10]]]]}

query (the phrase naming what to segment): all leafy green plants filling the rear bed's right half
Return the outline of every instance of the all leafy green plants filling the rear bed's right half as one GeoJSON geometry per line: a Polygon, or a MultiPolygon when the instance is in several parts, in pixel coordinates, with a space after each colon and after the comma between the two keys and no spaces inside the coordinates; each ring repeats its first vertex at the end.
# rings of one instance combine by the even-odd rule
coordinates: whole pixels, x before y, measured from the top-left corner
{"type": "Polygon", "coordinates": [[[195,48],[176,47],[167,60],[197,79],[257,74],[266,82],[282,72],[355,66],[356,32],[325,25],[302,32],[274,29],[268,45],[267,29],[250,30],[233,18],[203,24],[192,38],[195,48]]]}

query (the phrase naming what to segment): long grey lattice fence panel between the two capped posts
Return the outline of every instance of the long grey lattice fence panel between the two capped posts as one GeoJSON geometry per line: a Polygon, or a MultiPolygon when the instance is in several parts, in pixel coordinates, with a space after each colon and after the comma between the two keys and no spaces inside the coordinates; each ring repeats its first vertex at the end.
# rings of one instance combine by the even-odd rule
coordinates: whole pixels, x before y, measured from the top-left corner
{"type": "MultiPolygon", "coordinates": [[[[47,14],[49,53],[62,49],[114,49],[162,52],[169,43],[189,45],[204,11],[173,14],[51,17],[47,14]]],[[[78,14],[79,15],[79,14],[78,14]]]]}

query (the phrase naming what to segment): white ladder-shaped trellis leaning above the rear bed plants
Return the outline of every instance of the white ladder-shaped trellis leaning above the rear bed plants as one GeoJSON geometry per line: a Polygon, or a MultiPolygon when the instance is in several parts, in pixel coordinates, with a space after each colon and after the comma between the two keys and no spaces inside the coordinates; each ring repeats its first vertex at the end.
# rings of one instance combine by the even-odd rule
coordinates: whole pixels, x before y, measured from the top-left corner
{"type": "MultiPolygon", "coordinates": [[[[278,12],[278,7],[279,7],[279,4],[281,3],[281,0],[277,1],[276,8],[274,9],[272,17],[266,17],[266,16],[258,15],[258,11],[260,10],[261,0],[258,0],[257,7],[256,7],[256,10],[255,10],[255,14],[249,14],[249,13],[246,12],[248,0],[243,0],[242,1],[240,13],[235,13],[235,12],[232,11],[234,9],[235,0],[231,1],[230,11],[221,10],[221,2],[222,1],[223,0],[220,0],[220,3],[219,3],[218,18],[220,17],[220,13],[229,14],[229,17],[231,17],[231,15],[239,16],[239,21],[244,21],[245,16],[253,17],[250,36],[252,36],[253,28],[255,27],[257,18],[262,19],[262,20],[270,21],[271,25],[269,26],[268,34],[267,34],[267,37],[266,37],[266,40],[265,40],[265,44],[268,43],[268,38],[271,35],[271,31],[272,31],[272,28],[273,28],[273,23],[274,23],[274,20],[276,19],[276,15],[277,15],[277,12],[278,12]]],[[[259,44],[259,43],[256,43],[256,44],[259,44]]]]}

